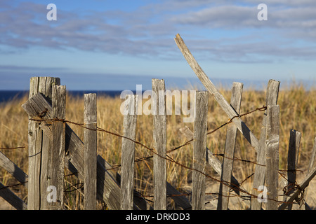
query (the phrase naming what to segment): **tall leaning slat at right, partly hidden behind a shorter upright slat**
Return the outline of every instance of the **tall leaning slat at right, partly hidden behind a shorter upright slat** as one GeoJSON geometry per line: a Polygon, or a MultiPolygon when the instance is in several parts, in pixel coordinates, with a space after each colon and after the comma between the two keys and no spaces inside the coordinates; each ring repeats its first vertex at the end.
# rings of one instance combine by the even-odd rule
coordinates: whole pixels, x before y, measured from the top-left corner
{"type": "MultiPolygon", "coordinates": [[[[279,81],[269,80],[265,95],[265,106],[277,105],[277,98],[279,96],[279,81]]],[[[265,184],[265,153],[266,153],[266,117],[267,113],[263,114],[263,122],[261,127],[261,135],[259,140],[259,148],[257,152],[256,165],[254,172],[253,195],[258,195],[258,188],[265,184]]],[[[260,210],[261,202],[258,202],[256,197],[251,197],[251,210],[260,210]]]]}

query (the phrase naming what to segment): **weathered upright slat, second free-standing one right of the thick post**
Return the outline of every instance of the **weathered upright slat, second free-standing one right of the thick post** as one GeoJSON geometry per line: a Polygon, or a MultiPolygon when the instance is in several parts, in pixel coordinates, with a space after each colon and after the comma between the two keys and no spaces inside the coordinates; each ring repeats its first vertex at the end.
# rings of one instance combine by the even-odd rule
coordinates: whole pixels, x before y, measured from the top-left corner
{"type": "Polygon", "coordinates": [[[125,97],[124,137],[133,141],[121,139],[121,210],[133,210],[137,99],[133,94],[125,97]]]}

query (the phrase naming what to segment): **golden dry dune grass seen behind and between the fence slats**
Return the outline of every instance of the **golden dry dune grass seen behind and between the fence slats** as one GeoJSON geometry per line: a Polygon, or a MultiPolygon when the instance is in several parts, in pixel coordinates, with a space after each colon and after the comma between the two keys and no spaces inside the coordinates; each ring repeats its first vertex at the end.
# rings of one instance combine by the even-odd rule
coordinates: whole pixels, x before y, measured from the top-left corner
{"type": "MultiPolygon", "coordinates": [[[[225,99],[230,100],[230,90],[219,90],[225,99]]],[[[28,152],[27,152],[27,124],[28,118],[21,105],[27,100],[27,96],[22,99],[15,99],[6,104],[0,104],[0,147],[14,148],[25,146],[22,149],[1,149],[8,158],[10,158],[18,167],[28,173],[28,152]]],[[[98,97],[98,127],[123,134],[123,116],[120,113],[123,99],[119,97],[98,97]]],[[[143,102],[144,103],[144,102],[143,102]]],[[[242,106],[240,113],[246,113],[261,107],[265,104],[265,92],[255,90],[244,90],[242,94],[242,106]]],[[[306,171],[310,153],[312,150],[313,139],[316,136],[316,90],[315,88],[305,90],[303,85],[292,85],[282,88],[279,92],[280,106],[280,142],[279,142],[279,169],[287,169],[287,151],[289,147],[289,133],[293,128],[302,133],[300,155],[298,160],[298,169],[306,171]]],[[[67,96],[66,119],[76,123],[84,122],[84,99],[80,97],[67,96]]],[[[254,132],[257,139],[260,136],[263,112],[251,113],[242,120],[254,132]]],[[[192,123],[183,123],[183,116],[167,116],[167,151],[185,143],[184,135],[179,131],[181,127],[189,127],[193,130],[192,123]]],[[[228,121],[228,117],[223,113],[220,106],[212,96],[209,96],[208,130],[213,130],[228,121]]],[[[74,132],[83,139],[84,130],[82,127],[70,124],[74,132]]],[[[213,153],[223,153],[225,146],[226,127],[208,135],[207,146],[213,153]]],[[[152,147],[152,116],[138,116],[136,141],[140,141],[146,146],[152,147]]],[[[98,132],[98,154],[100,154],[110,165],[119,165],[121,162],[121,139],[105,132],[98,132]]],[[[150,151],[136,144],[136,159],[152,155],[150,151]]],[[[181,164],[192,167],[192,146],[185,146],[169,154],[174,160],[181,164]]],[[[237,135],[236,153],[237,158],[256,161],[256,153],[250,144],[242,137],[237,135]]],[[[218,157],[219,160],[222,158],[218,157]]],[[[120,172],[120,169],[117,169],[120,172]]],[[[220,177],[213,172],[211,168],[206,172],[219,179],[220,177]]],[[[254,164],[234,162],[233,174],[238,181],[246,179],[254,172],[254,164]]],[[[70,174],[66,172],[66,174],[70,174]]],[[[167,162],[167,180],[180,192],[190,193],[191,172],[172,162],[167,162]]],[[[298,174],[298,175],[305,175],[298,174]]],[[[74,176],[65,178],[66,188],[80,182],[74,176]]],[[[0,181],[4,185],[17,183],[4,169],[0,167],[0,181]]],[[[251,186],[253,179],[249,178],[243,185],[251,186]]],[[[137,162],[135,165],[135,185],[143,195],[153,195],[152,189],[152,160],[137,162]]],[[[211,183],[207,180],[206,183],[211,183]]],[[[72,188],[73,189],[73,188],[72,188]]],[[[19,197],[27,202],[27,189],[23,186],[11,188],[19,197]]],[[[212,192],[216,193],[216,192],[212,192]]],[[[83,209],[83,193],[80,190],[65,194],[65,207],[67,209],[83,209]]],[[[148,197],[152,200],[152,197],[148,197]]],[[[98,204],[99,209],[106,209],[104,204],[98,204]]],[[[170,208],[174,208],[170,200],[170,208]]]]}

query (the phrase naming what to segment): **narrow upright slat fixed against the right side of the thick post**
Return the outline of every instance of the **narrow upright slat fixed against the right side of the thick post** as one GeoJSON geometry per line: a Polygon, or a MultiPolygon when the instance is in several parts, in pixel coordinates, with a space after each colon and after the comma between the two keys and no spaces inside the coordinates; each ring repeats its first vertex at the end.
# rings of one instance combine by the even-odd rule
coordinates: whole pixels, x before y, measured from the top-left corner
{"type": "MultiPolygon", "coordinates": [[[[52,95],[53,118],[65,119],[66,116],[66,87],[65,85],[54,85],[52,95]]],[[[65,169],[65,123],[54,121],[52,123],[52,147],[48,151],[48,189],[53,186],[55,190],[47,191],[46,197],[51,197],[49,194],[56,194],[55,201],[46,198],[46,208],[51,210],[64,209],[64,169],[65,169]]]]}

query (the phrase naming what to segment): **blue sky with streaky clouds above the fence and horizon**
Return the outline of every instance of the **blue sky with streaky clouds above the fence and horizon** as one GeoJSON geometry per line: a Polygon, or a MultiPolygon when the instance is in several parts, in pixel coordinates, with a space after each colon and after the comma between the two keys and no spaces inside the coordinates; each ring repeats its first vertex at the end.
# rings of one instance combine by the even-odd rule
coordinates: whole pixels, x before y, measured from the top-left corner
{"type": "Polygon", "coordinates": [[[315,0],[1,0],[0,90],[28,90],[32,76],[59,77],[67,90],[200,85],[176,34],[216,85],[315,85],[315,0]]]}

